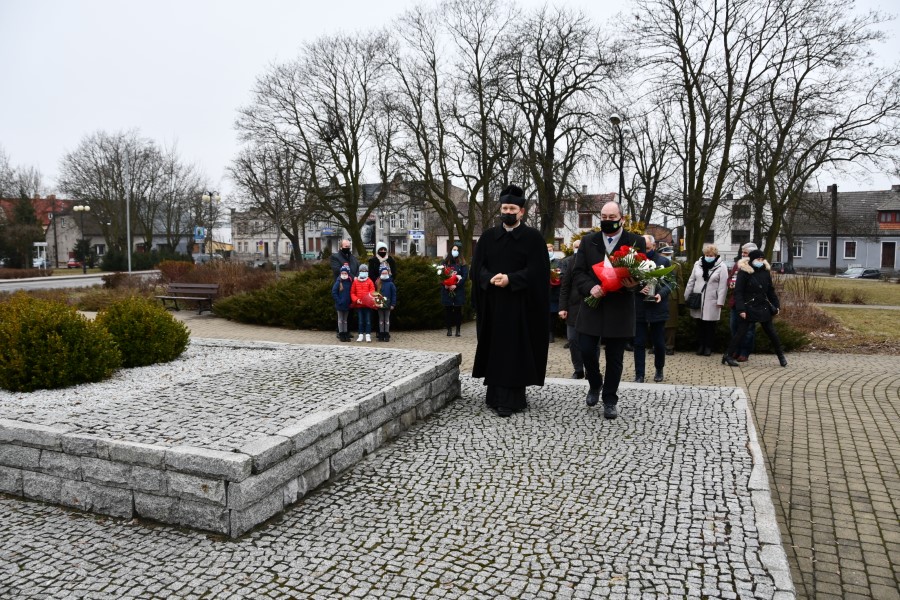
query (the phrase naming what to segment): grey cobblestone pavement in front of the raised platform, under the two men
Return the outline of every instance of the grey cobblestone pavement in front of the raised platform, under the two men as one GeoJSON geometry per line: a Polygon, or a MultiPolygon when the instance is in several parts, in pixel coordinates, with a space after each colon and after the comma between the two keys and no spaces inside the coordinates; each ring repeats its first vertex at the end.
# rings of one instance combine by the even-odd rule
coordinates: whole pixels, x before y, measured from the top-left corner
{"type": "Polygon", "coordinates": [[[532,389],[501,420],[464,377],[462,399],[234,542],[0,499],[0,594],[777,598],[743,394],[632,387],[611,422],[584,391],[532,389]]]}

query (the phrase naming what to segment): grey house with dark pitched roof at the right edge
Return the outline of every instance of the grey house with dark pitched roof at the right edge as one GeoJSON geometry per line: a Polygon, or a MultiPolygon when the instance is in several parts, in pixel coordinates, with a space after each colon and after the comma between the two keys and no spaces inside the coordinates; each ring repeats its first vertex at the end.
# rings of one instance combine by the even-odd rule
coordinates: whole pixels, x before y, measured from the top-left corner
{"type": "Polygon", "coordinates": [[[825,192],[804,194],[811,208],[793,224],[796,269],[827,270],[836,251],[837,270],[850,266],[894,274],[900,246],[900,185],[890,190],[837,192],[837,246],[832,248],[832,198],[825,192]],[[815,207],[819,206],[820,210],[815,207]]]}

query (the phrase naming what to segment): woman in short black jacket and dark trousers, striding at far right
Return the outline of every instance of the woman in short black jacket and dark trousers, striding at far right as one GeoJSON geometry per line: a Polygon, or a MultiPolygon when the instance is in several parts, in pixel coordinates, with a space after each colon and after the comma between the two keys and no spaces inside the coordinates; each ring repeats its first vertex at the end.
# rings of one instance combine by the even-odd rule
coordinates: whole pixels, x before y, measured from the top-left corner
{"type": "Polygon", "coordinates": [[[762,330],[769,336],[778,364],[787,366],[784,350],[781,348],[781,340],[772,324],[772,317],[781,312],[781,304],[775,286],[772,285],[772,275],[768,261],[760,250],[754,250],[747,255],[747,262],[740,261],[740,270],[734,283],[734,310],[737,311],[740,322],[737,332],[731,338],[728,349],[722,356],[722,364],[730,367],[738,366],[738,362],[732,358],[737,351],[747,330],[759,323],[762,330]]]}

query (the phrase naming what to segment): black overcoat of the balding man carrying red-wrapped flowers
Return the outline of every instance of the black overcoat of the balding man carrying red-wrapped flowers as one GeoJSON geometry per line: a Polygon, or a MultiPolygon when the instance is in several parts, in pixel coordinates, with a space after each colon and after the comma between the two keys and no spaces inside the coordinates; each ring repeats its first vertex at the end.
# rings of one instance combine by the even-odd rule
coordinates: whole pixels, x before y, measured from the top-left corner
{"type": "MultiPolygon", "coordinates": [[[[600,283],[594,275],[593,266],[603,262],[606,258],[606,244],[603,242],[603,233],[591,233],[581,240],[578,254],[575,255],[575,267],[572,269],[573,293],[581,294],[582,298],[591,295],[591,289],[600,283]]],[[[613,252],[622,246],[631,246],[639,252],[647,251],[647,242],[642,236],[623,231],[613,252]]],[[[575,321],[575,330],[587,335],[597,335],[603,338],[629,338],[634,337],[635,314],[634,293],[640,288],[626,290],[622,288],[616,292],[610,292],[600,298],[600,305],[591,308],[582,306],[578,311],[578,319],[575,321]]]]}

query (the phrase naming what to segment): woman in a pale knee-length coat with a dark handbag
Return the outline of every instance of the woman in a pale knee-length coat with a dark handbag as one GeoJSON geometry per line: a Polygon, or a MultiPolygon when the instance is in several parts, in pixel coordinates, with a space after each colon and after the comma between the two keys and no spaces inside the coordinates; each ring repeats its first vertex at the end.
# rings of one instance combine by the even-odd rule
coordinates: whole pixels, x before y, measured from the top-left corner
{"type": "Polygon", "coordinates": [[[715,244],[703,244],[703,254],[691,269],[691,276],[684,286],[684,299],[687,300],[692,292],[700,294],[701,299],[700,308],[691,309],[691,317],[697,321],[697,356],[710,356],[716,323],[722,316],[728,295],[728,268],[715,244]]]}

